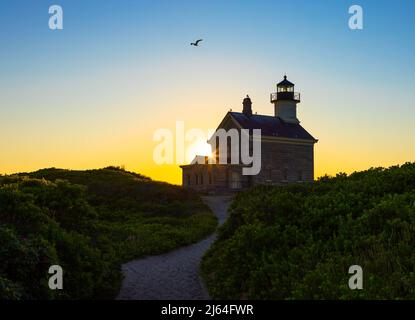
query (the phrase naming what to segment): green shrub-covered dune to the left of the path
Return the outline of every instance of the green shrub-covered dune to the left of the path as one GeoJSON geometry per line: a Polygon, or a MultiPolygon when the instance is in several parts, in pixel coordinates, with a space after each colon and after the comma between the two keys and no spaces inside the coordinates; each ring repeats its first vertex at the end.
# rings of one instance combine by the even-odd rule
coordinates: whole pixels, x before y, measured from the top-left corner
{"type": "Polygon", "coordinates": [[[217,221],[193,192],[116,167],[0,177],[0,299],[114,298],[120,265],[196,242],[217,221]],[[64,271],[50,290],[48,269],[64,271]]]}

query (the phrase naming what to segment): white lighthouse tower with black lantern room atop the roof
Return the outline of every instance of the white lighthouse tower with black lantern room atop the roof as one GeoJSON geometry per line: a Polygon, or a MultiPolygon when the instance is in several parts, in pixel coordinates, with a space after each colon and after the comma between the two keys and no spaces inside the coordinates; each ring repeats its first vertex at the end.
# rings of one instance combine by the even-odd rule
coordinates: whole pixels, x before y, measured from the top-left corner
{"type": "Polygon", "coordinates": [[[294,92],[294,83],[284,76],[284,80],[277,84],[277,92],[271,93],[275,116],[287,123],[300,123],[297,118],[297,103],[299,102],[300,93],[294,92]]]}

